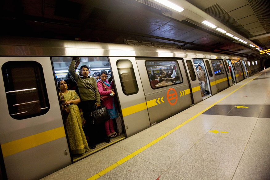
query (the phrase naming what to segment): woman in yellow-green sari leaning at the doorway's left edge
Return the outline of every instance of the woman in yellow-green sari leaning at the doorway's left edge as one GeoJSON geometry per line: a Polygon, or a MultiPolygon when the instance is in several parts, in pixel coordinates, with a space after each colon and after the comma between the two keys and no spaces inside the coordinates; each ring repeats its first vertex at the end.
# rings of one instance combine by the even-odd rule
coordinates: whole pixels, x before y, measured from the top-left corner
{"type": "Polygon", "coordinates": [[[70,113],[67,116],[67,119],[65,119],[65,125],[69,138],[71,153],[85,153],[85,151],[89,150],[89,147],[82,129],[84,118],[82,116],[82,112],[77,106],[77,104],[81,102],[81,99],[75,90],[68,90],[67,83],[64,79],[59,80],[57,82],[57,86],[60,89],[60,99],[62,94],[64,97],[64,104],[68,105],[70,109],[70,113]]]}

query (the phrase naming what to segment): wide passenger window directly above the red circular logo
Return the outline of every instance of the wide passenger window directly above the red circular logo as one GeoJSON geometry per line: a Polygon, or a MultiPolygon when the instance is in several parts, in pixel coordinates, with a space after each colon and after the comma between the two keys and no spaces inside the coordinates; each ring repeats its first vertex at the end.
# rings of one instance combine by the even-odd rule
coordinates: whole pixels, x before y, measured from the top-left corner
{"type": "Polygon", "coordinates": [[[183,83],[177,61],[145,61],[152,89],[183,83]]]}

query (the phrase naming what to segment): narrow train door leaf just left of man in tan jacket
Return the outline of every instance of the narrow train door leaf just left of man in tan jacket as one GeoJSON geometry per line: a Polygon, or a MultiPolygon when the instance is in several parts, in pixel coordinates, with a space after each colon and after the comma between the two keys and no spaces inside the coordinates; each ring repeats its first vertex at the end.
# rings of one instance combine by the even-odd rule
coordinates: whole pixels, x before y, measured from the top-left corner
{"type": "Polygon", "coordinates": [[[197,73],[196,73],[194,63],[193,63],[193,59],[184,58],[183,61],[185,63],[187,77],[189,78],[189,81],[190,81],[193,101],[194,101],[194,104],[197,104],[202,101],[202,95],[201,95],[200,84],[199,84],[199,81],[197,80],[197,73]]]}

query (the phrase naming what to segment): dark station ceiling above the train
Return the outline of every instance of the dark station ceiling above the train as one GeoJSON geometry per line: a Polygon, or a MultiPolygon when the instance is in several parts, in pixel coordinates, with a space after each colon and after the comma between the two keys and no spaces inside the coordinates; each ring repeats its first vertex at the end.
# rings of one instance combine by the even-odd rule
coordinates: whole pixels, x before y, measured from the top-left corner
{"type": "Polygon", "coordinates": [[[9,0],[2,3],[2,34],[66,40],[158,45],[269,58],[269,0],[9,0]],[[186,8],[185,8],[186,7],[186,8]],[[202,24],[217,23],[243,44],[202,24]],[[249,44],[255,45],[254,48],[249,44]]]}

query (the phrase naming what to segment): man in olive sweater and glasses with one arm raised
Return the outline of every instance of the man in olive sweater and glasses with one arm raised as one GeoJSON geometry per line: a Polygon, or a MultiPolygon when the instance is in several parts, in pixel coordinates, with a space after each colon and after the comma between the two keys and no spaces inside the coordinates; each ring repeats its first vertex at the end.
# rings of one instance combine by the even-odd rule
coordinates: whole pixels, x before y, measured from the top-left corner
{"type": "Polygon", "coordinates": [[[75,72],[75,64],[80,61],[79,57],[73,57],[69,65],[69,74],[72,79],[77,83],[80,96],[81,96],[81,107],[83,111],[83,117],[87,123],[87,131],[89,136],[89,147],[94,149],[95,146],[95,129],[93,125],[93,120],[90,115],[93,111],[94,105],[100,106],[100,96],[98,92],[97,81],[94,77],[88,75],[89,68],[86,65],[81,66],[81,75],[79,76],[75,72]]]}

